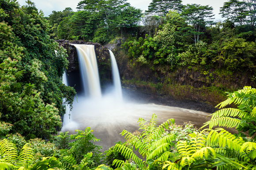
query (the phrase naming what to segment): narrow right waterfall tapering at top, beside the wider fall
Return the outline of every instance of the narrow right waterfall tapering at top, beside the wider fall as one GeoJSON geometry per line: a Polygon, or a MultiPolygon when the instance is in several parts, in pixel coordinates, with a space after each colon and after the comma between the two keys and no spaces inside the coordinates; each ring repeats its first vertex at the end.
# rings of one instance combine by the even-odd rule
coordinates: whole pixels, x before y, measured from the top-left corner
{"type": "Polygon", "coordinates": [[[109,50],[110,59],[111,59],[111,68],[112,68],[112,76],[113,76],[113,84],[116,98],[119,100],[123,100],[121,81],[119,76],[119,71],[117,67],[116,58],[111,50],[109,50]]]}

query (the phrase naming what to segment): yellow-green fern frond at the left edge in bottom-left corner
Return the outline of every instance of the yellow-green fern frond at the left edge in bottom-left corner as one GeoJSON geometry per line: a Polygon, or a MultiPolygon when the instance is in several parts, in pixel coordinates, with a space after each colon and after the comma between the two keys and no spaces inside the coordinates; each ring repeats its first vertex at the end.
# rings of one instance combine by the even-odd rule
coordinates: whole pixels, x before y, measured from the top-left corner
{"type": "Polygon", "coordinates": [[[18,158],[17,148],[7,139],[0,142],[0,154],[1,158],[7,163],[14,163],[18,158]]]}

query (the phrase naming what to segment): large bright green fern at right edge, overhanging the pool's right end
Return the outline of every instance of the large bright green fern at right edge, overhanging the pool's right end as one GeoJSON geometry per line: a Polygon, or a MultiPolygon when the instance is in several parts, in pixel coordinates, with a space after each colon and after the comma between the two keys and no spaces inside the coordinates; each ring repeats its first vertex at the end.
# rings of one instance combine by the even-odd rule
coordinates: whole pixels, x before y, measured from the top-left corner
{"type": "MultiPolygon", "coordinates": [[[[252,87],[244,87],[242,90],[228,94],[228,99],[222,101],[216,107],[223,108],[226,105],[237,105],[237,109],[224,108],[211,114],[211,120],[204,123],[209,128],[214,126],[235,127],[238,132],[249,130],[249,136],[256,133],[256,90],[252,87]]],[[[239,133],[241,135],[241,133],[239,133]]],[[[254,141],[256,138],[254,137],[254,141]]]]}

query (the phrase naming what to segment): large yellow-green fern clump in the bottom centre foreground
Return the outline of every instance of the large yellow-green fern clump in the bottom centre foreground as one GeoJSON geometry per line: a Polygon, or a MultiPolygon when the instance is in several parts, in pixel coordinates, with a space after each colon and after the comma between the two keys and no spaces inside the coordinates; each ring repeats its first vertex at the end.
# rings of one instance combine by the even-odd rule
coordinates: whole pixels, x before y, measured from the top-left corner
{"type": "MultiPolygon", "coordinates": [[[[149,123],[142,118],[139,118],[138,122],[139,130],[143,130],[141,133],[132,134],[123,130],[121,134],[123,136],[125,135],[125,139],[135,150],[138,149],[141,156],[146,157],[146,161],[139,159],[139,157],[132,152],[132,148],[125,145],[116,144],[114,149],[120,152],[121,155],[132,159],[140,169],[153,166],[152,163],[155,159],[166,160],[169,158],[169,156],[171,156],[169,148],[173,145],[172,141],[175,136],[169,134],[162,137],[162,134],[170,124],[174,123],[174,120],[168,119],[157,127],[156,115],[153,114],[149,123]]],[[[116,159],[113,164],[120,167],[124,165],[124,161],[116,159]]]]}

